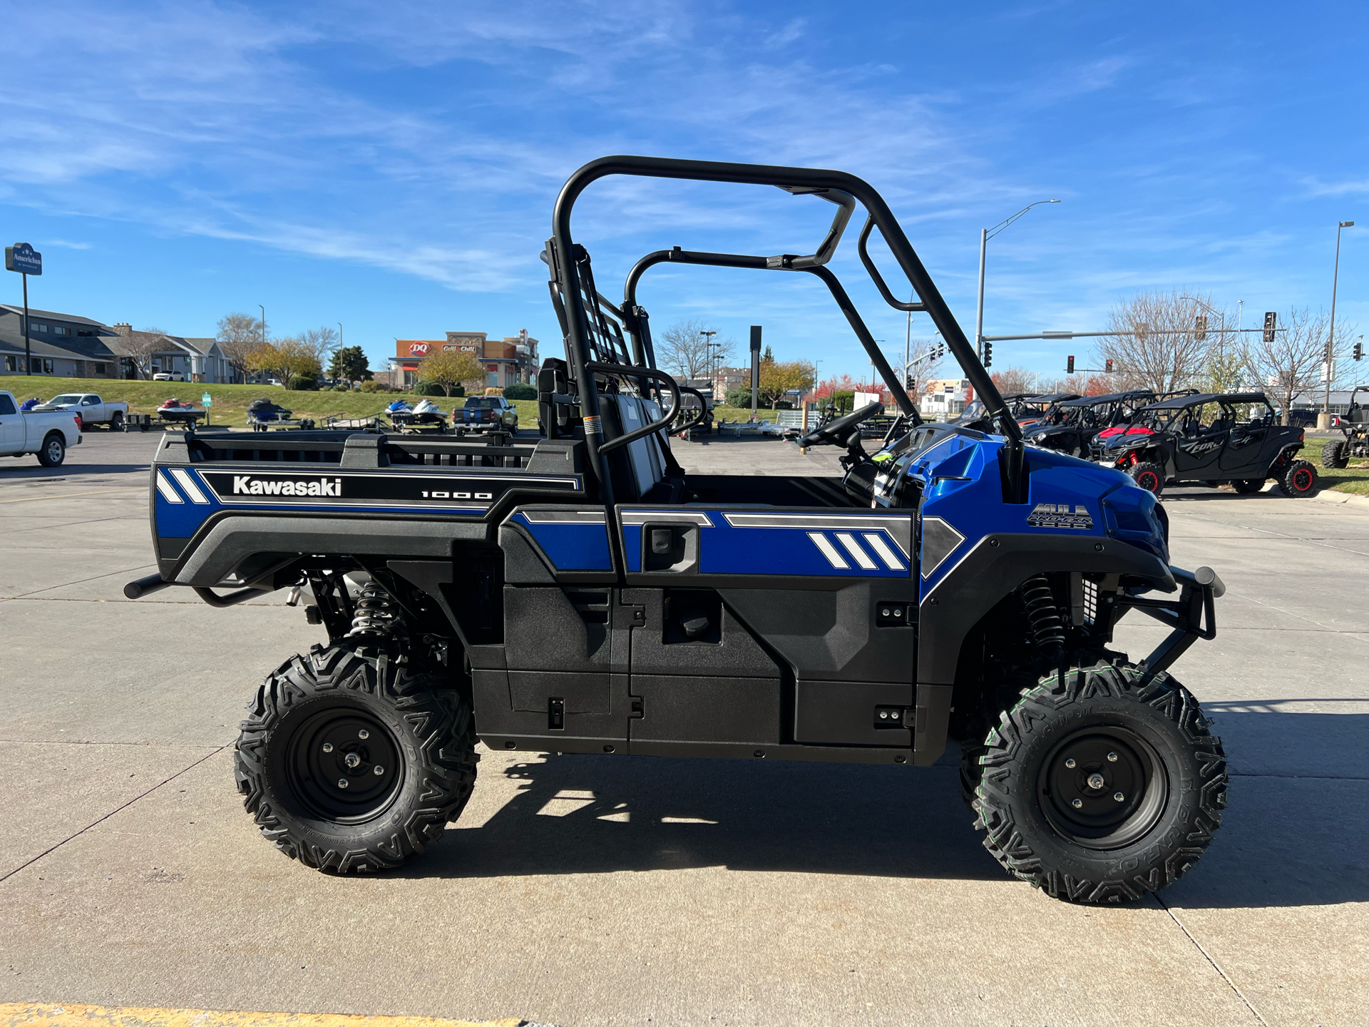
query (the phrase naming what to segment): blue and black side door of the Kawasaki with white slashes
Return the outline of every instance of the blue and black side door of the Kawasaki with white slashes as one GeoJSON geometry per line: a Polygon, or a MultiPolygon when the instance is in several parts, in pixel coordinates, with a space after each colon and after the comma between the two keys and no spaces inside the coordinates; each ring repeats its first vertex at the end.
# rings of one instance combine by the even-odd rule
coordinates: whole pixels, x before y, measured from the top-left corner
{"type": "Polygon", "coordinates": [[[878,707],[913,701],[910,514],[706,504],[631,505],[619,518],[627,594],[660,597],[632,630],[632,694],[643,698],[634,739],[648,731],[721,739],[749,724],[764,737],[756,741],[912,744],[890,720],[876,727],[878,707]],[[700,638],[694,652],[669,641],[689,619],[713,630],[706,611],[682,605],[689,594],[698,609],[717,611],[719,641],[700,638]],[[675,705],[649,726],[648,692],[669,675],[675,705]]]}

